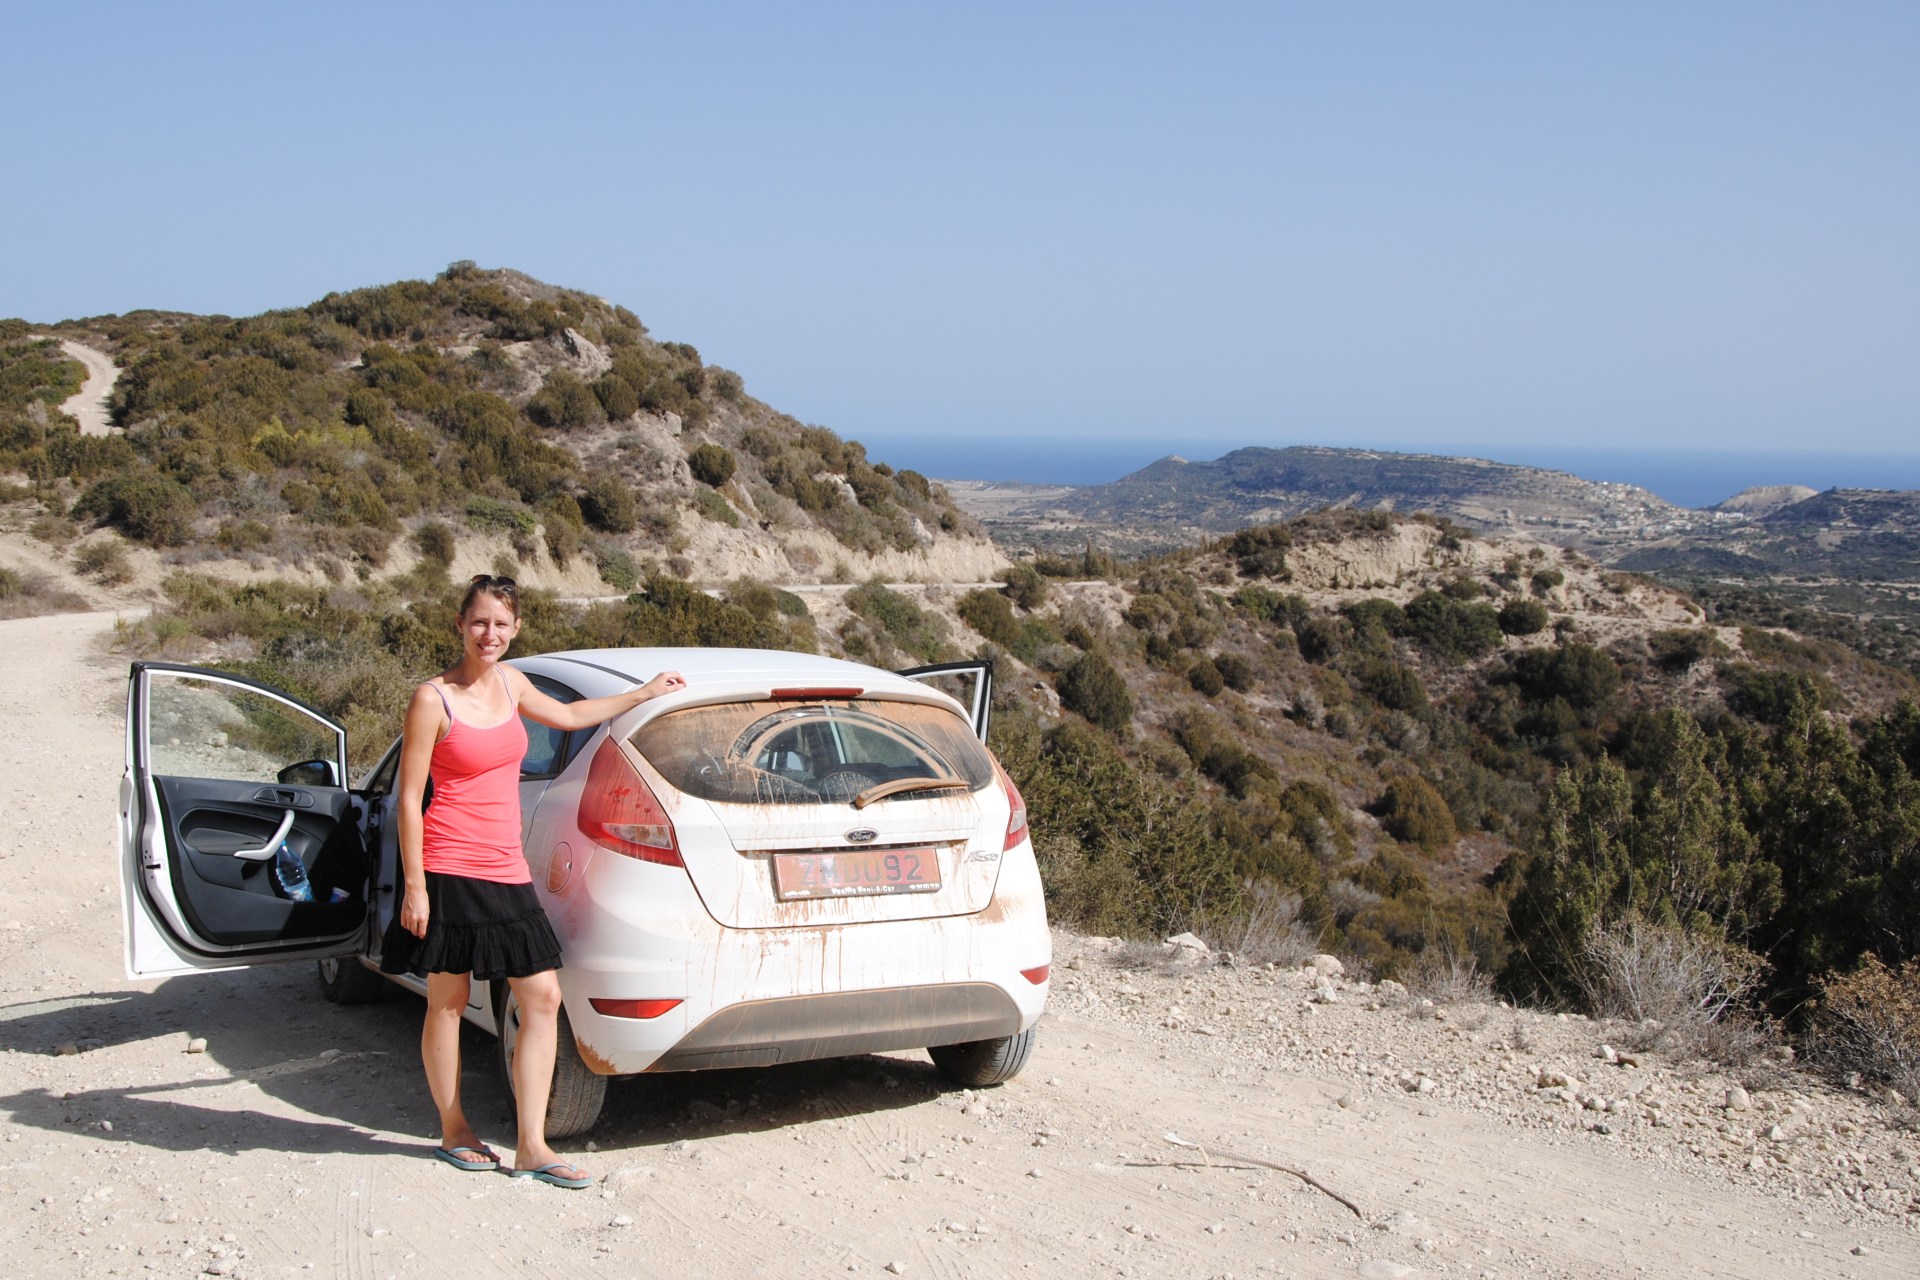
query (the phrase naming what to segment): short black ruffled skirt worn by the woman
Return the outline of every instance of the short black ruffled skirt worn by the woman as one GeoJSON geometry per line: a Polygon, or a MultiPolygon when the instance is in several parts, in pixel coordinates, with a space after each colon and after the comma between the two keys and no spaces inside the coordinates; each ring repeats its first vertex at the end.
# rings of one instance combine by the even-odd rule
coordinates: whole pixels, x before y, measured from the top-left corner
{"type": "Polygon", "coordinates": [[[399,923],[401,902],[380,946],[380,973],[472,973],[484,983],[561,967],[561,940],[532,885],[426,873],[426,936],[399,923]]]}

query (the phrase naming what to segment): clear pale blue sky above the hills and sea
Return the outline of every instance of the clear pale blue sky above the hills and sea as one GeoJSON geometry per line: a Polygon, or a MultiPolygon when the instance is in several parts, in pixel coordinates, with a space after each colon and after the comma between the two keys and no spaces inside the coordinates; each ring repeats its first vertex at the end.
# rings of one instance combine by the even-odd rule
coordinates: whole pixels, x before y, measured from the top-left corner
{"type": "Polygon", "coordinates": [[[470,257],[852,438],[1920,451],[1914,4],[6,31],[0,315],[248,315],[470,257]]]}

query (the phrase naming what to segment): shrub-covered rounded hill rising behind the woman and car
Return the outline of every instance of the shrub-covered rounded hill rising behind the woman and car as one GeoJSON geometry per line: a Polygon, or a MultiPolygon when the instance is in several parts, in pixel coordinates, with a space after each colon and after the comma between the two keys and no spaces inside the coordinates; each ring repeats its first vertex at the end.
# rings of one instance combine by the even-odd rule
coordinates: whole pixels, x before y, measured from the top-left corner
{"type": "Polygon", "coordinates": [[[0,470],[52,547],[108,526],[96,558],[242,580],[426,562],[603,595],[659,568],[975,580],[1004,562],[924,476],[778,413],[626,307],[468,263],[246,319],[0,322],[0,470]],[[119,367],[104,436],[61,411],[86,397],[60,344],[119,367]]]}

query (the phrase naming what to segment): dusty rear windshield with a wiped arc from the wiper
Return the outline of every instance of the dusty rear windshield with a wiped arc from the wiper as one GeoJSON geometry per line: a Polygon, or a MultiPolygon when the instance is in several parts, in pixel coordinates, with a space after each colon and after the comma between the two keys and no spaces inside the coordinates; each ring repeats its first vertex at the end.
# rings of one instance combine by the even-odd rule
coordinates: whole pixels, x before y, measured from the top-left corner
{"type": "Polygon", "coordinates": [[[724,804],[910,802],[993,781],[973,727],[920,702],[689,706],[647,722],[634,747],[680,791],[724,804]]]}

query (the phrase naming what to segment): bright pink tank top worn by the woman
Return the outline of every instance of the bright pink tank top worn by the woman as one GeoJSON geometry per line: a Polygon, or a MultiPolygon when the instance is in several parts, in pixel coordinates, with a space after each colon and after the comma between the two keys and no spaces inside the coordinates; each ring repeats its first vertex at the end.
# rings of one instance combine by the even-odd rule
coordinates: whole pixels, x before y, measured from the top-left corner
{"type": "MultiPolygon", "coordinates": [[[[505,676],[499,677],[507,681],[505,676]]],[[[520,760],[526,756],[526,725],[520,716],[476,729],[461,723],[440,685],[447,708],[447,735],[434,743],[428,771],[434,802],[426,806],[420,831],[420,865],[444,875],[474,881],[524,885],[534,875],[520,850],[520,760]]]]}

